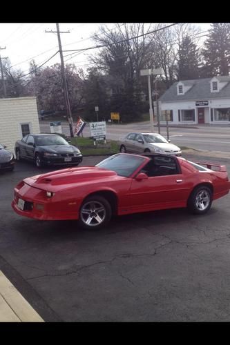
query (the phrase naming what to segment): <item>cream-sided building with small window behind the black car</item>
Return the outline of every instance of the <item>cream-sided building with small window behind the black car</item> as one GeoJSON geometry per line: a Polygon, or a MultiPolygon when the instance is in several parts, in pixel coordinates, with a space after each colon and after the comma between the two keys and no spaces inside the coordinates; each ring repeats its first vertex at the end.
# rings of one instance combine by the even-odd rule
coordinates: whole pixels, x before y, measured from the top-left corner
{"type": "Polygon", "coordinates": [[[0,144],[15,152],[15,141],[40,133],[36,97],[0,99],[0,144]]]}

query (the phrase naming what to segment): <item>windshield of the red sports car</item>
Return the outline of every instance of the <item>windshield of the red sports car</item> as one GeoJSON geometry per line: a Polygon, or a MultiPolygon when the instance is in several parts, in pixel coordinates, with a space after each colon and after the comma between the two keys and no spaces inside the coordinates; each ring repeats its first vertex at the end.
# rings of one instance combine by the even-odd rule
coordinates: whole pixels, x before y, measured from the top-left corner
{"type": "Polygon", "coordinates": [[[99,168],[113,170],[117,172],[117,175],[128,177],[140,166],[145,158],[137,157],[133,155],[118,154],[104,159],[100,163],[96,164],[99,168]]]}

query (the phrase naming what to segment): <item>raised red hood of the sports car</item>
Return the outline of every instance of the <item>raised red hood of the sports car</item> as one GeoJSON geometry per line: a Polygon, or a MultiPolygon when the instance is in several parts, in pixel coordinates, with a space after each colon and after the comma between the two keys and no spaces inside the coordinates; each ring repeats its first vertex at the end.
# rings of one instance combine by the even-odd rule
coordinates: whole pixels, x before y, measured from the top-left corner
{"type": "Polygon", "coordinates": [[[57,192],[75,186],[76,184],[90,184],[95,181],[116,179],[117,172],[98,168],[97,166],[84,166],[81,168],[67,168],[36,175],[23,179],[24,183],[41,190],[57,192]]]}

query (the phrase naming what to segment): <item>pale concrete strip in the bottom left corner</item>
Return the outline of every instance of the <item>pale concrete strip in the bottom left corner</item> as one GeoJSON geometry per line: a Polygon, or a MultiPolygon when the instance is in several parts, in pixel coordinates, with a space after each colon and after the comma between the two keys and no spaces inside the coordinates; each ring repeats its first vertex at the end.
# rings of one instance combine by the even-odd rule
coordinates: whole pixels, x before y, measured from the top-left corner
{"type": "Polygon", "coordinates": [[[1,270],[0,322],[44,322],[1,270]]]}

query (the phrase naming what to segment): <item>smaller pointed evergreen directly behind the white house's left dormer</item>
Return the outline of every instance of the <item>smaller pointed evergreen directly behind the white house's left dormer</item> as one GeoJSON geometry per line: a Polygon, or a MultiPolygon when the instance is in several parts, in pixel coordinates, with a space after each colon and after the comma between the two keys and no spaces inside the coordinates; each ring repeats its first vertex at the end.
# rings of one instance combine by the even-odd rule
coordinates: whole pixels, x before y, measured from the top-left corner
{"type": "Polygon", "coordinates": [[[189,36],[182,40],[178,50],[178,79],[198,79],[199,77],[199,52],[195,43],[189,36]]]}

